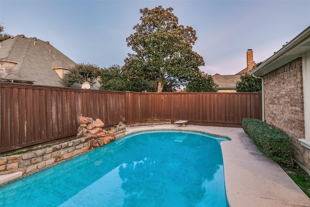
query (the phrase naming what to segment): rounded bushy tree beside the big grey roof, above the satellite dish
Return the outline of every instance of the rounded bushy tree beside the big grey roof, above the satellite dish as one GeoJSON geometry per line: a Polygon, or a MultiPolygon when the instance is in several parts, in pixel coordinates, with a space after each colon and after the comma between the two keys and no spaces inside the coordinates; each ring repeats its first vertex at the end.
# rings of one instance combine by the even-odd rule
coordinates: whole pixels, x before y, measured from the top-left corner
{"type": "Polygon", "coordinates": [[[74,83],[81,86],[84,82],[94,85],[99,77],[99,71],[100,68],[95,64],[76,64],[64,75],[62,83],[67,87],[72,86],[74,83]]]}

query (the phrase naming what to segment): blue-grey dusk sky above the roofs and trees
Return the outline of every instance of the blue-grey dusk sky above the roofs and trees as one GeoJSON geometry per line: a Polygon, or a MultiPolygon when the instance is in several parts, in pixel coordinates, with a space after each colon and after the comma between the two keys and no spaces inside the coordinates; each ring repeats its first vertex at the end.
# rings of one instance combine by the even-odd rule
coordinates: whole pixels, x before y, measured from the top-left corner
{"type": "Polygon", "coordinates": [[[49,41],[76,63],[122,66],[140,9],[159,5],[196,30],[193,50],[210,75],[244,69],[248,49],[262,62],[310,25],[310,0],[0,0],[0,22],[4,32],[49,41]]]}

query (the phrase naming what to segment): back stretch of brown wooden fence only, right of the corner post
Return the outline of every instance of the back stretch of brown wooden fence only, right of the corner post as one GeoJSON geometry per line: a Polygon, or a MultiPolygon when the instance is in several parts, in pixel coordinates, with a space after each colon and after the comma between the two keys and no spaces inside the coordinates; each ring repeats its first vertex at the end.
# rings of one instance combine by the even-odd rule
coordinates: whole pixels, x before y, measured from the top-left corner
{"type": "Polygon", "coordinates": [[[190,124],[241,127],[242,118],[262,118],[258,93],[126,92],[127,122],[188,120],[190,124]]]}

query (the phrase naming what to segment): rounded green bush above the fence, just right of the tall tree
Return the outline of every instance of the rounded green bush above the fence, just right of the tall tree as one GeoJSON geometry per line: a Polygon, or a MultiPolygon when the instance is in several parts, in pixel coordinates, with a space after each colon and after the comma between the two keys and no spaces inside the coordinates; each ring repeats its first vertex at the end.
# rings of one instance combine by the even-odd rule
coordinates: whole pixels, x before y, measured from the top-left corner
{"type": "Polygon", "coordinates": [[[186,85],[186,92],[217,92],[217,84],[211,75],[200,71],[186,85]]]}

